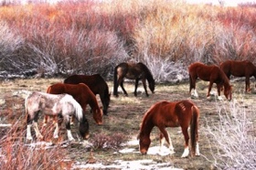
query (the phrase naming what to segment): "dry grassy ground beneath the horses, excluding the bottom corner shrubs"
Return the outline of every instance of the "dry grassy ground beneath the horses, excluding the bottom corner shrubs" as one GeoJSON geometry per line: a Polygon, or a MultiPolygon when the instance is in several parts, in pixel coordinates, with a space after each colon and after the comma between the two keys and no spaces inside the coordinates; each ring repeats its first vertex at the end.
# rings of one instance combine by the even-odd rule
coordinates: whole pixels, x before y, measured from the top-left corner
{"type": "MultiPolygon", "coordinates": [[[[10,134],[12,128],[1,127],[0,139],[1,143],[5,143],[6,139],[9,141],[18,141],[21,146],[27,144],[25,140],[26,134],[26,123],[25,123],[25,112],[24,112],[24,97],[26,96],[25,90],[42,90],[46,91],[50,84],[59,82],[61,79],[27,79],[27,80],[4,80],[0,84],[0,123],[1,124],[12,124],[15,126],[18,122],[18,128],[16,131],[21,132],[21,136],[14,136],[10,134]],[[19,138],[15,140],[13,138],[19,138]]],[[[252,81],[253,82],[253,81],[252,81]]],[[[184,150],[184,137],[181,133],[180,128],[168,129],[171,136],[172,142],[175,147],[175,154],[172,155],[160,155],[160,154],[146,154],[142,155],[139,153],[139,146],[136,144],[136,136],[139,132],[140,123],[142,122],[144,112],[157,101],[178,101],[184,99],[190,99],[188,93],[188,83],[180,83],[176,85],[172,84],[156,84],[155,93],[149,93],[149,97],[145,97],[144,89],[142,85],[139,85],[139,93],[137,97],[133,96],[133,82],[125,82],[124,87],[127,90],[129,96],[124,97],[121,89],[119,89],[120,96],[115,98],[112,96],[109,116],[103,117],[103,124],[97,125],[93,120],[91,113],[87,112],[87,118],[90,122],[90,133],[91,137],[89,142],[93,143],[93,140],[99,139],[102,134],[106,136],[114,136],[114,134],[121,134],[121,136],[127,138],[127,143],[117,148],[96,148],[95,145],[91,147],[85,147],[80,143],[65,143],[61,145],[61,151],[65,153],[64,158],[67,162],[66,169],[122,169],[122,168],[139,168],[140,166],[133,165],[133,161],[139,161],[144,164],[143,169],[160,169],[170,167],[182,168],[182,169],[215,169],[216,157],[219,154],[219,149],[214,141],[213,135],[209,133],[209,127],[217,127],[219,124],[220,117],[219,112],[228,112],[230,105],[237,103],[241,110],[245,110],[248,115],[255,111],[256,106],[253,104],[255,101],[254,83],[251,82],[251,88],[253,87],[250,94],[244,94],[244,81],[231,81],[233,85],[233,101],[217,101],[214,96],[210,100],[206,99],[206,93],[208,90],[208,83],[204,81],[197,82],[197,91],[199,94],[198,99],[193,99],[200,110],[199,120],[199,147],[200,156],[188,158],[181,158],[181,154],[184,150]],[[133,144],[132,142],[135,142],[133,144]],[[131,144],[132,143],[132,144],[131,144]],[[65,147],[64,147],[65,145],[65,147]],[[124,152],[129,151],[132,152],[124,152]],[[123,152],[122,152],[123,151],[123,152]],[[127,161],[122,166],[122,163],[118,160],[127,161]],[[153,160],[153,162],[143,163],[143,160],[153,160]],[[93,163],[93,164],[91,164],[93,163]],[[100,166],[97,166],[101,164],[100,166]],[[112,166],[116,165],[116,166],[112,166]]],[[[112,91],[112,82],[108,81],[110,91],[112,91]]],[[[215,87],[213,88],[215,90],[215,87]]],[[[100,105],[101,101],[97,97],[100,105]]],[[[224,99],[224,96],[223,96],[224,99]]],[[[231,112],[232,113],[232,112],[231,112]]],[[[255,116],[251,117],[252,125],[255,124],[255,116]]],[[[41,127],[42,118],[39,119],[39,127],[41,127]]],[[[216,131],[218,132],[218,131],[216,131]]],[[[78,129],[76,125],[72,127],[72,133],[76,139],[78,139],[78,129]]],[[[214,133],[214,132],[211,132],[214,133]]],[[[252,136],[255,138],[255,127],[252,129],[252,136]]],[[[48,134],[48,136],[52,133],[48,134]]],[[[231,135],[231,134],[230,134],[231,135]]],[[[54,145],[63,143],[67,139],[65,128],[61,129],[61,135],[58,142],[54,142],[54,145]]],[[[151,147],[157,146],[158,141],[158,130],[155,128],[151,134],[151,147]]],[[[50,140],[50,137],[48,137],[50,140]]],[[[34,141],[35,142],[35,141],[34,141]]],[[[8,144],[7,144],[8,145],[8,144]]],[[[21,147],[20,146],[20,147],[21,147]]],[[[1,146],[1,164],[3,160],[8,160],[2,152],[3,147],[7,147],[6,143],[1,146]]],[[[10,145],[9,145],[10,147],[10,145]]],[[[8,147],[8,148],[9,148],[8,147]]],[[[28,147],[28,146],[27,146],[28,147]]],[[[38,146],[39,147],[39,146],[38,146]]],[[[255,147],[255,146],[254,146],[255,147]]],[[[55,147],[51,147],[46,151],[54,150],[55,147]]],[[[221,151],[220,151],[221,152],[221,151]]],[[[252,151],[255,154],[255,150],[252,151]]],[[[6,154],[8,155],[8,154],[6,154]]],[[[14,155],[18,156],[18,155],[14,155]]],[[[54,159],[50,158],[50,159],[54,159]]],[[[21,159],[23,160],[23,159],[21,159]]],[[[9,160],[10,161],[10,160],[9,160]]],[[[63,161],[63,160],[62,160],[63,161]]],[[[61,162],[61,161],[60,161],[61,162]]],[[[6,162],[5,162],[6,163],[6,162]]],[[[43,162],[44,163],[44,162],[43,162]]],[[[22,162],[20,164],[23,164],[22,162]]],[[[227,162],[228,164],[228,162],[227,162]]],[[[254,162],[255,165],[255,162],[254,162]]],[[[3,167],[3,165],[2,165],[3,167]]],[[[6,165],[5,165],[6,167],[6,165]]],[[[17,167],[19,167],[17,165],[17,167]]],[[[45,167],[45,166],[43,166],[45,167]]],[[[58,166],[56,166],[58,167],[58,166]]],[[[255,166],[254,166],[255,167],[255,166]]],[[[38,168],[38,167],[37,167],[38,168]]],[[[46,167],[45,167],[46,168],[46,167]]],[[[61,169],[61,166],[59,166],[61,169]]],[[[59,169],[57,168],[57,169],[59,169]]],[[[38,168],[40,169],[40,167],[38,168]]],[[[42,168],[44,169],[44,168],[42,168]]]]}

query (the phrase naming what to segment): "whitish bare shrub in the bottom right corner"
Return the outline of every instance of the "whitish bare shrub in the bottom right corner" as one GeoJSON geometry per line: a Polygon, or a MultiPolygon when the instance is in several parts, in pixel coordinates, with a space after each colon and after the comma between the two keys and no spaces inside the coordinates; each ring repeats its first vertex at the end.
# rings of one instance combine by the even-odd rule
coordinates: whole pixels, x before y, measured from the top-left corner
{"type": "Polygon", "coordinates": [[[217,150],[212,153],[213,164],[219,169],[256,168],[254,111],[232,101],[228,107],[218,106],[219,122],[207,120],[209,143],[217,150]]]}

